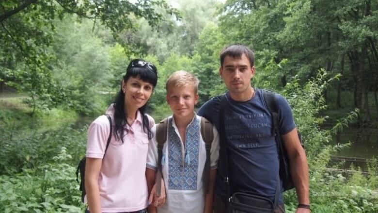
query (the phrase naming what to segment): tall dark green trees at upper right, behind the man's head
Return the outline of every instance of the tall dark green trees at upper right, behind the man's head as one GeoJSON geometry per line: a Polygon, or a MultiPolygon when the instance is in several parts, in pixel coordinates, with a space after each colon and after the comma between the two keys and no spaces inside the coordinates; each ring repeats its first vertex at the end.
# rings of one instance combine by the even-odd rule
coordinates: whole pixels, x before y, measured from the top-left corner
{"type": "Polygon", "coordinates": [[[256,66],[271,85],[282,87],[296,75],[303,84],[322,67],[343,72],[334,99],[341,99],[342,89],[351,91],[354,107],[364,108],[369,120],[368,93],[377,93],[377,10],[371,0],[228,0],[220,20],[229,43],[256,50],[263,59],[256,66]]]}

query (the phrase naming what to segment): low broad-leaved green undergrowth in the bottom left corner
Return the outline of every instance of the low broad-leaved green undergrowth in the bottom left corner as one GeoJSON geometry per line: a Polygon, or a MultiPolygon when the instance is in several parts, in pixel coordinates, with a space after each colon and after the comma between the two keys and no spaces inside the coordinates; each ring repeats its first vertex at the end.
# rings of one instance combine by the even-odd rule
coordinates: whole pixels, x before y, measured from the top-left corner
{"type": "Polygon", "coordinates": [[[67,164],[71,158],[62,147],[52,163],[0,176],[0,212],[82,212],[76,168],[67,164]]]}

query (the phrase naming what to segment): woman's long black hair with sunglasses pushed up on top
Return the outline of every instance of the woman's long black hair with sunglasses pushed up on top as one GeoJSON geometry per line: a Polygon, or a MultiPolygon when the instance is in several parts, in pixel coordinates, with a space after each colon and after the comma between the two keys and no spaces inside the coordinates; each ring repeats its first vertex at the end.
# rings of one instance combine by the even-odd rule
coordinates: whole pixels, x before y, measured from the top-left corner
{"type": "MultiPolygon", "coordinates": [[[[154,88],[157,84],[157,69],[154,65],[146,63],[142,59],[134,59],[130,61],[129,65],[127,66],[126,69],[126,75],[124,75],[124,82],[126,83],[127,80],[130,78],[140,78],[144,82],[149,82],[151,83],[154,88]]],[[[118,92],[116,98],[114,99],[114,123],[115,123],[115,128],[113,131],[114,137],[116,140],[121,139],[122,143],[124,143],[124,127],[126,125],[129,125],[126,122],[126,113],[124,110],[125,106],[125,94],[122,91],[122,82],[121,82],[121,88],[120,91],[118,92]]],[[[144,132],[148,134],[148,139],[152,138],[152,132],[151,128],[149,126],[148,119],[145,119],[145,111],[146,111],[146,104],[144,104],[141,108],[139,108],[139,111],[142,114],[142,128],[144,132]],[[148,127],[148,128],[147,128],[148,127]]]]}

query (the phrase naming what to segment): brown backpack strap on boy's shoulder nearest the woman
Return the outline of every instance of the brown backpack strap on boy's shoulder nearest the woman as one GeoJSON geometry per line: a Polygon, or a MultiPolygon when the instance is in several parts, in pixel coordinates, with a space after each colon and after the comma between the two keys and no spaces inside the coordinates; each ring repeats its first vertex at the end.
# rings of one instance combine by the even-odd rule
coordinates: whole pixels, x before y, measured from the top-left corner
{"type": "Polygon", "coordinates": [[[157,140],[157,174],[156,174],[156,197],[161,194],[161,158],[163,157],[163,146],[167,140],[168,132],[168,118],[164,118],[156,125],[156,140],[157,140]]]}

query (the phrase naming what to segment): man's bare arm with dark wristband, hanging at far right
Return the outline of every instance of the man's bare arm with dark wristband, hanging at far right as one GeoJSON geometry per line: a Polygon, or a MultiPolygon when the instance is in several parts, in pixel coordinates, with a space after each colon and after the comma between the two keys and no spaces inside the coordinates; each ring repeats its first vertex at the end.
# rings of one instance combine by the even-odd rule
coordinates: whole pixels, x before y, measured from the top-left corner
{"type": "MultiPolygon", "coordinates": [[[[284,146],[289,156],[290,173],[293,178],[298,202],[310,204],[309,175],[306,153],[300,145],[297,128],[282,135],[284,146]]],[[[298,212],[310,212],[308,209],[299,208],[298,212]]]]}

